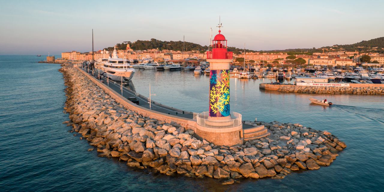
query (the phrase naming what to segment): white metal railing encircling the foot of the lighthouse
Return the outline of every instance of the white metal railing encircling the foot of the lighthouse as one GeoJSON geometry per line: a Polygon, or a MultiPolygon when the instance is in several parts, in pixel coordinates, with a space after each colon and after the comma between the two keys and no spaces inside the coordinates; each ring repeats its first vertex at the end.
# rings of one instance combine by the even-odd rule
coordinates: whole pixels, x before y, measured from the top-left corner
{"type": "Polygon", "coordinates": [[[227,120],[208,119],[209,112],[194,113],[194,119],[197,120],[197,124],[203,127],[210,128],[229,128],[242,124],[242,115],[240,113],[231,112],[231,116],[227,120]]]}

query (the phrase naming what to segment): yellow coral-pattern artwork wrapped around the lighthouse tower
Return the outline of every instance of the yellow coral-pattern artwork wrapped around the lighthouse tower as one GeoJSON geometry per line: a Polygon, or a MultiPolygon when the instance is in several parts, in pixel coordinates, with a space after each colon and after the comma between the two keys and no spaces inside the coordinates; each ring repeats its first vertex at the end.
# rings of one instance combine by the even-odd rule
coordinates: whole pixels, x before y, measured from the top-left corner
{"type": "Polygon", "coordinates": [[[209,116],[227,117],[229,112],[229,70],[210,70],[209,116]]]}

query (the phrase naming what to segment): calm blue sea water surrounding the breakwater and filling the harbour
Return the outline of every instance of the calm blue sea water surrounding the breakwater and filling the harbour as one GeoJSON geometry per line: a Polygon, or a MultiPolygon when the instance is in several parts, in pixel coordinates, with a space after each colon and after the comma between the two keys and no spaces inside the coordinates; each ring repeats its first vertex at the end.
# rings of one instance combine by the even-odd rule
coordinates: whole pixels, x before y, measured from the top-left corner
{"type": "MultiPolygon", "coordinates": [[[[293,172],[281,180],[219,180],[152,174],[96,150],[62,124],[66,100],[60,65],[45,56],[0,56],[1,191],[382,191],[384,96],[295,94],[259,89],[271,79],[230,78],[231,111],[244,120],[300,123],[327,130],[347,148],[329,167],[293,172]],[[311,104],[309,98],[333,102],[311,104]]],[[[275,81],[274,79],[272,81],[275,81]]],[[[154,101],[192,112],[208,111],[209,76],[192,71],[137,70],[132,84],[154,101]]]]}

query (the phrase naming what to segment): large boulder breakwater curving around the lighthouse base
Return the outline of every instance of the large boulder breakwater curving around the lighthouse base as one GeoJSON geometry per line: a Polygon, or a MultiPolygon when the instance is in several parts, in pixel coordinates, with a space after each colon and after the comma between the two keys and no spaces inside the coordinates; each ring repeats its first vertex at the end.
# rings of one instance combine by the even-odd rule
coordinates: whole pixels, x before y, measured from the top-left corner
{"type": "Polygon", "coordinates": [[[346,147],[328,131],[300,124],[251,122],[270,129],[268,137],[242,146],[217,146],[194,137],[180,124],[168,124],[137,114],[118,104],[72,65],[59,70],[67,88],[64,111],[74,136],[87,139],[99,157],[116,157],[127,166],[166,175],[235,179],[283,179],[296,170],[329,166],[346,147]]]}

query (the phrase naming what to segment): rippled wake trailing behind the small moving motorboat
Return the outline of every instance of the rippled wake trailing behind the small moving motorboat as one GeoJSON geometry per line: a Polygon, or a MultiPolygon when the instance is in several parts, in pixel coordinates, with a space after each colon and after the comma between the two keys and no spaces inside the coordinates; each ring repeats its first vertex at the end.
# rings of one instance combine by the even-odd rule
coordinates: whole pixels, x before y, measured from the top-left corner
{"type": "Polygon", "coordinates": [[[362,107],[338,105],[338,104],[334,104],[333,108],[337,108],[349,113],[354,113],[363,118],[371,119],[371,120],[380,122],[381,124],[384,124],[384,109],[362,108],[362,107]]]}

